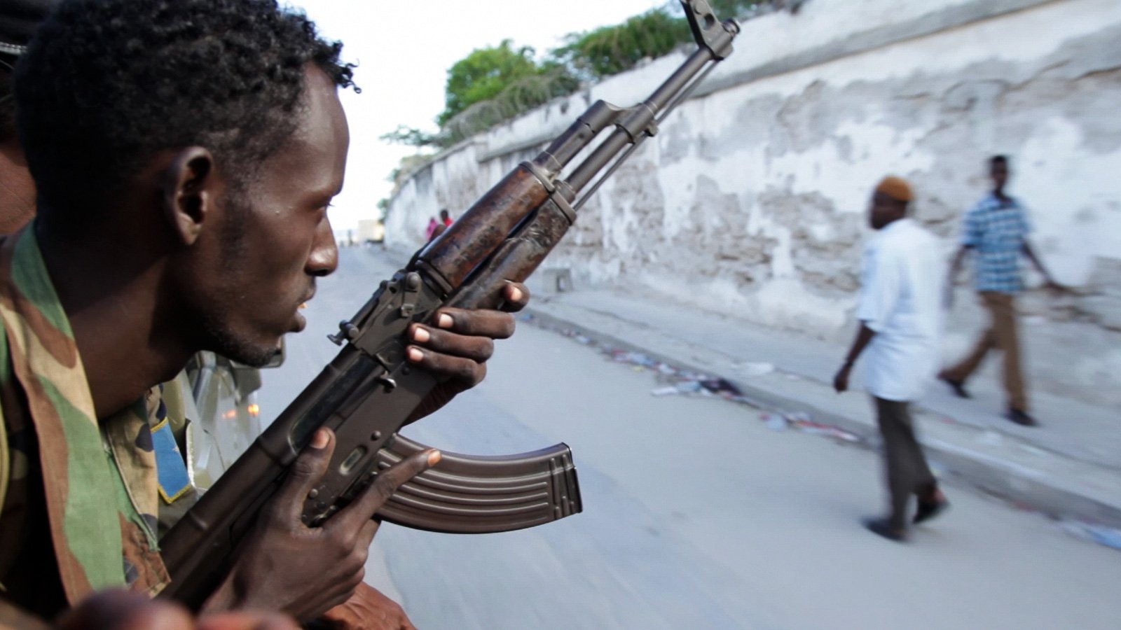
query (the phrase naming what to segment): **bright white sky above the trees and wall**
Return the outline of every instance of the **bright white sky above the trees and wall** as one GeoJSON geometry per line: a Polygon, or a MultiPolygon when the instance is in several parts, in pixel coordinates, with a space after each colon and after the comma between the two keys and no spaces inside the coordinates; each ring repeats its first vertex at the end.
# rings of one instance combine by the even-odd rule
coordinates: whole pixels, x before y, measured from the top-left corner
{"type": "Polygon", "coordinates": [[[325,36],[341,39],[343,57],[359,64],[354,78],[362,93],[342,95],[351,147],[346,184],[331,211],[332,224],[340,231],[376,216],[378,200],[392,187],[386,177],[402,156],[414,152],[378,136],[398,124],[436,131],[447,68],[471,50],[510,38],[518,46],[532,46],[540,57],[562,45],[568,33],[619,24],[666,0],[289,3],[307,11],[325,36]]]}

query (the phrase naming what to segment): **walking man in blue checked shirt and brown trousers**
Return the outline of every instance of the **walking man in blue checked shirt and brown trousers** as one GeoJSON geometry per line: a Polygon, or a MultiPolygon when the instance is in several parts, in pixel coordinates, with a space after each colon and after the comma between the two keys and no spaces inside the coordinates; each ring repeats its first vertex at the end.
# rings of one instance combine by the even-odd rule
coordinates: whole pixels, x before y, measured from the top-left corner
{"type": "Polygon", "coordinates": [[[1031,261],[1044,276],[1047,287],[1064,288],[1051,278],[1043,262],[1028,243],[1031,226],[1023,206],[1015,197],[1004,194],[1008,183],[1008,158],[995,156],[989,160],[989,176],[993,191],[981,200],[965,215],[962,247],[949,266],[953,285],[965,253],[973,252],[974,282],[981,302],[989,311],[989,328],[982,333],[973,350],[957,364],[938,374],[953,388],[954,392],[969,398],[965,381],[970,378],[990,350],[1004,352],[1004,391],[1008,395],[1009,420],[1023,426],[1035,426],[1028,415],[1028,395],[1020,370],[1020,341],[1016,323],[1016,294],[1023,289],[1020,278],[1020,254],[1031,261]]]}

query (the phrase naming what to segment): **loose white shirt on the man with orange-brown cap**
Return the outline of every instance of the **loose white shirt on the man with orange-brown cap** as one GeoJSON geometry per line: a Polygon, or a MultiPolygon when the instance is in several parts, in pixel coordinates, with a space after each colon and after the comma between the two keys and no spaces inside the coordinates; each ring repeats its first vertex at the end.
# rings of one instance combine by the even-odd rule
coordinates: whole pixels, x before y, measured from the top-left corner
{"type": "Polygon", "coordinates": [[[884,400],[915,400],[938,370],[942,287],[938,241],[912,219],[879,230],[864,250],[856,318],[876,332],[864,382],[884,400]]]}

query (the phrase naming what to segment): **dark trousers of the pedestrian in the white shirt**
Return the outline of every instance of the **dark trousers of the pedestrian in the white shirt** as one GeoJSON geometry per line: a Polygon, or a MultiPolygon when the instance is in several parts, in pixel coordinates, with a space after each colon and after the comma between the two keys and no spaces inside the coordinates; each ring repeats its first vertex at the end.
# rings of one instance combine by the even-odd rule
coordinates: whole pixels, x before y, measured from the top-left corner
{"type": "Polygon", "coordinates": [[[906,529],[907,502],[911,494],[930,491],[937,480],[926,463],[923,447],[915,438],[910,404],[900,400],[876,400],[877,420],[883,436],[883,462],[891,495],[891,527],[906,529]]]}

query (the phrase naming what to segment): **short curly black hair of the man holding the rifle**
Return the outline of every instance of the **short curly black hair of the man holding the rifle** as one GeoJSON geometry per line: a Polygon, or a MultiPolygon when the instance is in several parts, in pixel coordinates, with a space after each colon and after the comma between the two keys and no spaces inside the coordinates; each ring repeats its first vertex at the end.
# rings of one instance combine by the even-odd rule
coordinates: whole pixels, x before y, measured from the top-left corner
{"type": "Polygon", "coordinates": [[[308,63],[351,85],[341,49],[276,0],[65,0],[16,67],[40,205],[90,210],[189,146],[237,187],[295,131],[308,63]]]}

